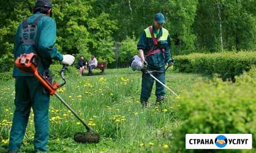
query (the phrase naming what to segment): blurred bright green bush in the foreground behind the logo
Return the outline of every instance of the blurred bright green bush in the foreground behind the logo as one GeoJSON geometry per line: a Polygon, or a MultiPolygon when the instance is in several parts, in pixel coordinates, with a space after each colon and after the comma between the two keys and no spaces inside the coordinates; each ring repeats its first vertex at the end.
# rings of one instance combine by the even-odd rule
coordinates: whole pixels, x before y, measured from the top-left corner
{"type": "MultiPolygon", "coordinates": [[[[176,145],[185,152],[187,133],[227,133],[256,135],[256,69],[236,77],[236,82],[214,78],[208,83],[197,83],[185,91],[175,110],[183,118],[177,129],[176,145]]],[[[256,137],[253,137],[253,142],[256,137]]],[[[255,149],[256,144],[253,144],[255,149]]],[[[186,150],[186,153],[205,153],[205,150],[186,150]]],[[[208,152],[217,153],[218,150],[208,152]]],[[[250,153],[250,150],[225,150],[225,153],[250,153]]]]}

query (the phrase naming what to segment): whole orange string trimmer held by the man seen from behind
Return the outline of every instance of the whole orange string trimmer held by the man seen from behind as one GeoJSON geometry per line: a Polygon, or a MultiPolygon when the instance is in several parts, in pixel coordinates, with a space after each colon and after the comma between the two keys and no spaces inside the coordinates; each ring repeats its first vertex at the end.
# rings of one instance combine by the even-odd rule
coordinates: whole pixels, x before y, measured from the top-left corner
{"type": "Polygon", "coordinates": [[[58,82],[51,83],[51,80],[45,76],[38,73],[37,67],[40,63],[40,57],[34,53],[22,54],[19,58],[15,60],[15,65],[21,71],[32,73],[40,81],[41,84],[46,88],[50,95],[55,95],[73,114],[74,116],[85,126],[87,132],[77,132],[74,136],[76,142],[82,143],[97,143],[100,141],[100,136],[97,132],[91,129],[85,121],[83,121],[80,116],[75,113],[75,111],[56,93],[57,89],[66,84],[66,79],[64,78],[64,71],[67,69],[66,65],[60,70],[60,76],[63,79],[63,83],[58,82]]]}

